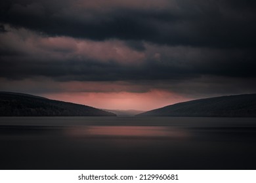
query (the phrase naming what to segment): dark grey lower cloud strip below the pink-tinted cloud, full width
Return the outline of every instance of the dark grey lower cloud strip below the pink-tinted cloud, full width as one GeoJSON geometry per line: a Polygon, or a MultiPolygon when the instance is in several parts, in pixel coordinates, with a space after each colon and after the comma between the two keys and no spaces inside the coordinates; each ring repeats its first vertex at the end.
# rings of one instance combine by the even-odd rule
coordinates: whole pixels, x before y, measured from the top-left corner
{"type": "MultiPolygon", "coordinates": [[[[186,50],[181,50],[181,54],[185,54],[184,52],[186,50]]],[[[194,58],[186,58],[186,56],[170,58],[165,55],[162,58],[150,58],[149,55],[144,63],[136,67],[133,64],[125,65],[114,60],[106,62],[89,58],[45,60],[40,57],[5,56],[0,62],[0,77],[22,79],[46,76],[62,81],[186,80],[200,78],[203,75],[256,77],[255,62],[251,61],[253,57],[251,52],[204,50],[203,53],[194,54],[194,58]],[[182,63],[182,59],[186,59],[186,62],[182,63]]]]}

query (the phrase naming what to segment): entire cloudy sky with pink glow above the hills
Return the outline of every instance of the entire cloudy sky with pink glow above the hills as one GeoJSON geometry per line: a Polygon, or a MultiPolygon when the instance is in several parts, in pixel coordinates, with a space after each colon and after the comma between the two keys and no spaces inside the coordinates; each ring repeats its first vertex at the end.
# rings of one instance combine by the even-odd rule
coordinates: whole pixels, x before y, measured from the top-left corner
{"type": "Polygon", "coordinates": [[[3,0],[0,91],[151,110],[256,93],[254,0],[3,0]]]}

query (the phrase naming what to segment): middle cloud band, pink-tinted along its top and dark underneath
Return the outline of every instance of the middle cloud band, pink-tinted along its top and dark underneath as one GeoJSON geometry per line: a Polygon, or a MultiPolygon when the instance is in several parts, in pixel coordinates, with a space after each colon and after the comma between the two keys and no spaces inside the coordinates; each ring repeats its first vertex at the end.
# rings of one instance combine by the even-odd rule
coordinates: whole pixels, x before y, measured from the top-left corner
{"type": "Polygon", "coordinates": [[[54,80],[188,80],[256,77],[253,48],[194,48],[146,42],[41,37],[27,29],[0,33],[0,77],[54,80]]]}

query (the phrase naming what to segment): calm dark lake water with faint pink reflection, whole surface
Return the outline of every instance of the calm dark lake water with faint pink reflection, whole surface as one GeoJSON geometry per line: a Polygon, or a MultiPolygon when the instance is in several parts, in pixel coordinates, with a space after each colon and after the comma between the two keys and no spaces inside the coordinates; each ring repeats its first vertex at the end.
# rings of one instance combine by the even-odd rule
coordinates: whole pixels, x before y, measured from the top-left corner
{"type": "Polygon", "coordinates": [[[256,169],[256,118],[0,118],[0,169],[256,169]]]}

